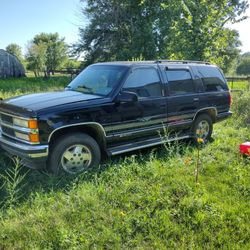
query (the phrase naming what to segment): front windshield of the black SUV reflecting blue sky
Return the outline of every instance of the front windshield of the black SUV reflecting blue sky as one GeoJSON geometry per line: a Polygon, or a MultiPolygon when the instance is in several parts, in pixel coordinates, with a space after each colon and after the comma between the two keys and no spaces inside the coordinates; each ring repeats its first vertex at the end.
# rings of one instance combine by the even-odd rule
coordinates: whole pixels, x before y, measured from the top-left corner
{"type": "Polygon", "coordinates": [[[126,66],[89,66],[66,87],[66,90],[105,96],[117,86],[126,71],[126,66]]]}

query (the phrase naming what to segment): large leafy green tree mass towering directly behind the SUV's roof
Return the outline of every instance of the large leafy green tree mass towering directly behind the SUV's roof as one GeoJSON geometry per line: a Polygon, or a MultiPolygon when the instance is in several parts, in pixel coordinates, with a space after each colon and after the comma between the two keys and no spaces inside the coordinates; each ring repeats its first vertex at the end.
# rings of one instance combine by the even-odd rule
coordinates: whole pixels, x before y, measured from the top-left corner
{"type": "Polygon", "coordinates": [[[244,19],[243,0],[82,0],[88,25],[76,52],[88,63],[169,58],[209,60],[227,68],[238,54],[238,33],[225,28],[244,19]]]}

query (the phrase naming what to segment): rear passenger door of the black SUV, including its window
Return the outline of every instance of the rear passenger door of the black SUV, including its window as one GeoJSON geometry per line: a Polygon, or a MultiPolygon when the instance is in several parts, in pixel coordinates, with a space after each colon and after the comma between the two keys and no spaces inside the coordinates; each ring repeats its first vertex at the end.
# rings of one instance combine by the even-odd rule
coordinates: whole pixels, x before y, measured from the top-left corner
{"type": "Polygon", "coordinates": [[[167,79],[168,127],[172,130],[189,127],[199,109],[199,94],[189,67],[165,70],[167,79]]]}

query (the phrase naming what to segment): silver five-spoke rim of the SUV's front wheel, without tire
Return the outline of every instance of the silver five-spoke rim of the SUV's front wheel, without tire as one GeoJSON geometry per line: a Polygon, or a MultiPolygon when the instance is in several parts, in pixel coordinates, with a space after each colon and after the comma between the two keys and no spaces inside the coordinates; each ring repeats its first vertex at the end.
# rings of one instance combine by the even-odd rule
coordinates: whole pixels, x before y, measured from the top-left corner
{"type": "Polygon", "coordinates": [[[61,158],[63,169],[70,174],[82,172],[90,166],[92,154],[84,145],[73,145],[65,150],[61,158]]]}

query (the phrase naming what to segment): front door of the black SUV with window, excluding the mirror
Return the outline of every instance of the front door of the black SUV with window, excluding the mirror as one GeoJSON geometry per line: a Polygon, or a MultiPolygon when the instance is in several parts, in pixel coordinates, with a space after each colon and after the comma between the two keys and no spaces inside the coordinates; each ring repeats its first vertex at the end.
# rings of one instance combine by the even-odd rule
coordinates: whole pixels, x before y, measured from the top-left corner
{"type": "Polygon", "coordinates": [[[167,121],[167,109],[157,66],[133,68],[121,91],[137,94],[138,101],[115,106],[114,137],[121,141],[159,136],[167,121]]]}

